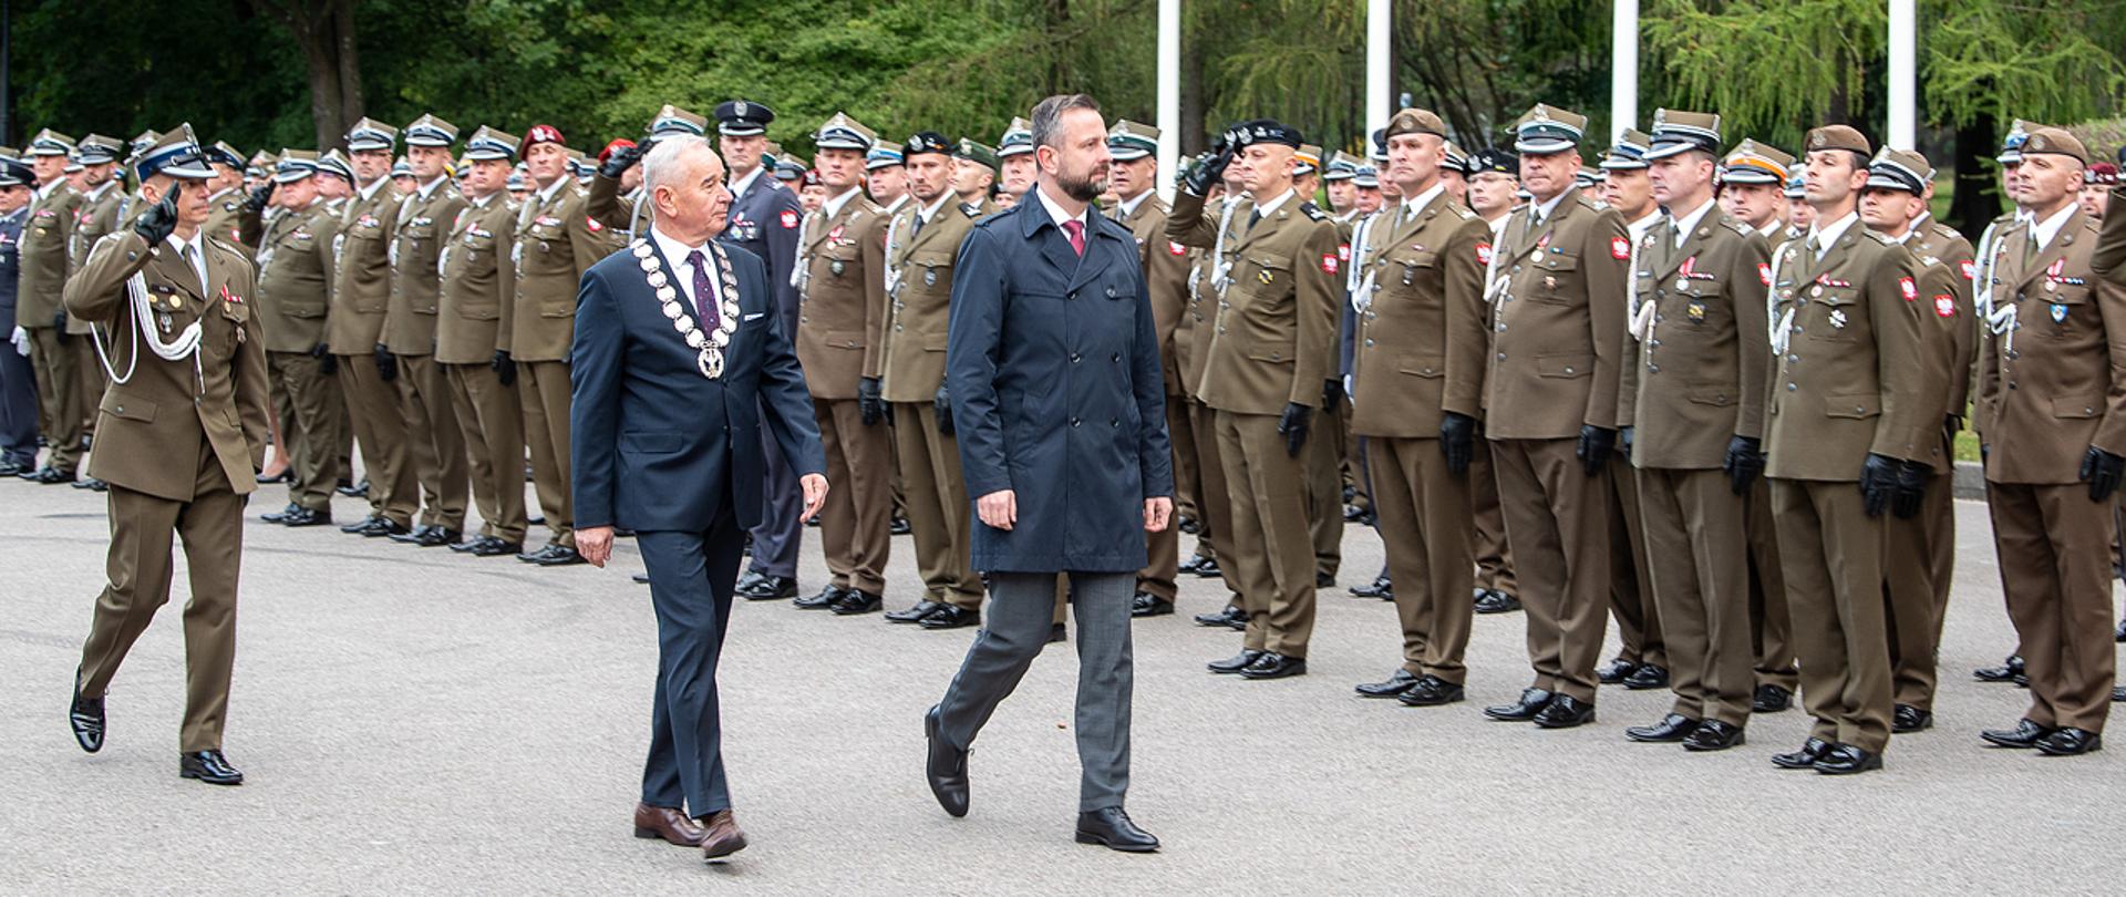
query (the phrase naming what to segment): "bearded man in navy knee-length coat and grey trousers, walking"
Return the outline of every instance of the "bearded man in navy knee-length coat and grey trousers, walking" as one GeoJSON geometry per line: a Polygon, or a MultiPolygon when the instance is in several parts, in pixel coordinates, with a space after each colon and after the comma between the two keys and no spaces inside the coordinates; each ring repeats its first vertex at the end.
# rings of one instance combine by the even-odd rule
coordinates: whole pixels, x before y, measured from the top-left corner
{"type": "Polygon", "coordinates": [[[938,803],[967,814],[967,746],[1048,644],[1054,580],[1078,608],[1078,842],[1159,850],[1129,791],[1129,608],[1144,534],[1174,514],[1152,300],[1127,227],[1091,210],[1108,128],[1089,96],[1033,106],[1040,183],[961,242],[946,385],[989,627],[923,718],[938,803]],[[1101,429],[1101,419],[1108,427],[1101,429]]]}

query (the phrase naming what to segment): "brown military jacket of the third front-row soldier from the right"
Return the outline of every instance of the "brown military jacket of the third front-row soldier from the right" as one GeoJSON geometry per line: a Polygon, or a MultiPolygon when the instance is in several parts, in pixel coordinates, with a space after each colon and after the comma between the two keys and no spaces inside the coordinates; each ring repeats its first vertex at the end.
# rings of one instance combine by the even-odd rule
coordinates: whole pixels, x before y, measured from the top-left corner
{"type": "Polygon", "coordinates": [[[1639,238],[1633,264],[1633,321],[1646,329],[1624,340],[1618,395],[1618,419],[1635,427],[1631,461],[1718,470],[1731,438],[1765,436],[1771,251],[1714,202],[1682,247],[1665,215],[1639,238]]]}

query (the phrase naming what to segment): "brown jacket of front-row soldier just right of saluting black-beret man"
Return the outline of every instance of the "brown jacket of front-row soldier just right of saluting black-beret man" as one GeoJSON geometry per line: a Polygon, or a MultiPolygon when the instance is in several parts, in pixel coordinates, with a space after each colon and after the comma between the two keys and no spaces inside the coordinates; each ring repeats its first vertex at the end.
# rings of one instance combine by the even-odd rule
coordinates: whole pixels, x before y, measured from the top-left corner
{"type": "Polygon", "coordinates": [[[1490,225],[1441,191],[1376,219],[1363,264],[1352,431],[1431,440],[1444,412],[1480,417],[1490,225]]]}

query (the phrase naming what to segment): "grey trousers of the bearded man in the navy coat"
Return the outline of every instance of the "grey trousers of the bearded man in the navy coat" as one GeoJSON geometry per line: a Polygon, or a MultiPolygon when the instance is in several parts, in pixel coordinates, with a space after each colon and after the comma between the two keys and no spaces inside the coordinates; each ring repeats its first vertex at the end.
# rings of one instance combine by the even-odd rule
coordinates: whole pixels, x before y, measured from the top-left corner
{"type": "MultiPolygon", "coordinates": [[[[1078,606],[1078,810],[1123,806],[1129,791],[1129,693],[1135,682],[1129,653],[1129,599],[1137,572],[1069,574],[1078,606]]],[[[989,574],[989,625],[967,648],[967,661],[938,704],[940,735],[955,746],[974,744],[1054,625],[1054,574],[989,574]]]]}

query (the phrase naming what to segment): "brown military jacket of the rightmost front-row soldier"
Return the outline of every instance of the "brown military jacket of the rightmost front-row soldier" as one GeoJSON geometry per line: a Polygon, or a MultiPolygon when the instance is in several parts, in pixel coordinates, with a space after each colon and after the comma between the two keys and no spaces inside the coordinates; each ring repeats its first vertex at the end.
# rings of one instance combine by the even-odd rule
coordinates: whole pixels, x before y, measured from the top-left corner
{"type": "Polygon", "coordinates": [[[2013,304],[2015,323],[1988,332],[1979,351],[1986,478],[2066,485],[2081,480],[2090,446],[2126,455],[2126,378],[2117,376],[2126,372],[2126,272],[2117,230],[2100,238],[2081,208],[2024,261],[2030,227],[2005,230],[1992,264],[1994,306],[2013,304]]]}

